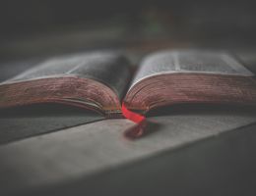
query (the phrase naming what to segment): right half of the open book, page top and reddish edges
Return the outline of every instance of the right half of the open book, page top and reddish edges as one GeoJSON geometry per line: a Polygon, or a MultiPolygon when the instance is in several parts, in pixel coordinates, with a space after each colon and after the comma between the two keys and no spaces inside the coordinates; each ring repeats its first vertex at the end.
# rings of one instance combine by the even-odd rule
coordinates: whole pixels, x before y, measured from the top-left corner
{"type": "Polygon", "coordinates": [[[223,52],[180,50],[147,56],[124,102],[147,113],[183,103],[256,105],[254,74],[223,52]]]}

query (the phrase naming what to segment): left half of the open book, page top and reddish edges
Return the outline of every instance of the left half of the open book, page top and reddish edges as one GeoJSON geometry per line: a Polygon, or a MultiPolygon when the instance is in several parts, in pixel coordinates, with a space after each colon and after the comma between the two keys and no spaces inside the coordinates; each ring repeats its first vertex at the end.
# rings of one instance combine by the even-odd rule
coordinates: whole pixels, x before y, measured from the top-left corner
{"type": "Polygon", "coordinates": [[[130,64],[119,52],[70,55],[35,66],[0,84],[0,108],[60,103],[119,114],[131,78],[130,64]]]}

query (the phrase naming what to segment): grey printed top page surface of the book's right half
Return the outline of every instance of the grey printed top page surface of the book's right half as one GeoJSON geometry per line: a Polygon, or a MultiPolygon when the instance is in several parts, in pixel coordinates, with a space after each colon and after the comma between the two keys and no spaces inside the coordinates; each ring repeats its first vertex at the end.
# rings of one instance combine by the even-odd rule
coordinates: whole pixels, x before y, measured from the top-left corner
{"type": "Polygon", "coordinates": [[[162,73],[253,75],[225,53],[205,50],[163,51],[145,58],[133,79],[132,86],[146,77],[162,73]]]}

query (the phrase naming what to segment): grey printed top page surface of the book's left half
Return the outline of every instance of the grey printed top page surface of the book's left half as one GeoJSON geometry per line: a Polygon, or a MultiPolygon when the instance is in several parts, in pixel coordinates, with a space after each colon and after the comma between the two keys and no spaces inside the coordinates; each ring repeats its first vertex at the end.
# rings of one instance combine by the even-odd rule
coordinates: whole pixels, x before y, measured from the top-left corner
{"type": "Polygon", "coordinates": [[[130,64],[120,53],[92,52],[47,60],[4,83],[65,76],[95,79],[112,88],[121,97],[131,78],[131,72],[130,64]]]}

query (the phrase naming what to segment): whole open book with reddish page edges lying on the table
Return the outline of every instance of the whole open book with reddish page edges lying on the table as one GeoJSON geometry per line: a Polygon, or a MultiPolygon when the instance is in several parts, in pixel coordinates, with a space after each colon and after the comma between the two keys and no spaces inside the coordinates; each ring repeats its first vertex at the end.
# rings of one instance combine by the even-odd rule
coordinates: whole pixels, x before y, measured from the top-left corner
{"type": "Polygon", "coordinates": [[[0,108],[62,103],[107,118],[181,103],[256,105],[255,75],[222,52],[181,50],[148,55],[134,71],[117,52],[50,59],[0,84],[0,108]]]}

